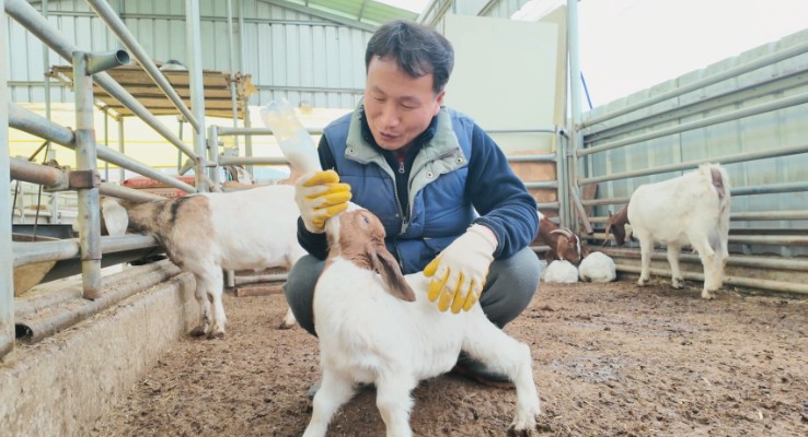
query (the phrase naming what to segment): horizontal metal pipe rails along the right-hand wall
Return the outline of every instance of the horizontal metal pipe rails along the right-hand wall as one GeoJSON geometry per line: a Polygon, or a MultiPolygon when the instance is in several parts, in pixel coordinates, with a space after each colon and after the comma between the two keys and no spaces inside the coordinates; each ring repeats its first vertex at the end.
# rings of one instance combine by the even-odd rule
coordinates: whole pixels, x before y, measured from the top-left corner
{"type": "MultiPolygon", "coordinates": [[[[673,147],[682,147],[684,141],[681,140],[681,133],[695,131],[699,129],[706,129],[719,123],[732,122],[736,120],[742,120],[749,117],[769,114],[777,110],[784,110],[793,108],[798,105],[808,104],[808,93],[796,92],[800,86],[808,83],[808,68],[797,62],[796,66],[790,68],[783,68],[777,71],[784,71],[783,74],[777,76],[767,76],[761,74],[761,79],[757,82],[751,82],[751,79],[747,79],[738,85],[734,82],[732,91],[725,91],[720,93],[711,94],[708,90],[704,90],[708,85],[716,83],[737,80],[740,74],[744,74],[761,68],[771,67],[777,62],[804,55],[808,52],[808,43],[794,44],[790,47],[786,47],[772,52],[771,55],[762,56],[742,64],[738,64],[732,68],[728,68],[725,71],[720,71],[711,74],[704,79],[693,81],[680,86],[676,86],[670,91],[662,92],[656,96],[651,96],[642,102],[626,105],[619,109],[609,111],[607,114],[597,115],[589,117],[588,119],[580,121],[576,125],[576,128],[581,132],[582,142],[581,146],[574,151],[576,161],[576,168],[579,172],[579,176],[573,179],[576,190],[579,187],[590,184],[601,182],[613,182],[613,181],[626,181],[631,182],[632,179],[638,177],[647,177],[653,175],[662,175],[669,173],[679,173],[699,167],[700,164],[704,163],[719,163],[719,164],[735,164],[735,163],[748,163],[757,162],[760,160],[775,158],[792,155],[801,155],[808,153],[808,143],[798,142],[790,145],[777,146],[777,147],[761,147],[753,152],[741,152],[724,154],[720,156],[709,156],[704,158],[696,158],[690,161],[682,161],[678,163],[671,163],[666,165],[653,166],[650,168],[642,169],[628,169],[622,172],[605,172],[604,174],[593,174],[590,169],[592,160],[596,156],[603,156],[603,154],[616,151],[622,147],[633,146],[632,153],[653,153],[650,147],[657,147],[655,151],[659,151],[662,147],[661,144],[646,143],[650,140],[656,139],[673,139],[667,144],[672,144],[673,147]],[[794,90],[788,93],[788,91],[794,90]],[[699,95],[699,98],[682,98],[682,102],[692,101],[691,103],[682,103],[679,101],[671,102],[670,105],[658,105],[663,102],[669,102],[674,98],[686,95],[695,91],[703,91],[703,94],[699,95]],[[753,105],[744,105],[747,102],[754,102],[761,97],[763,92],[770,95],[775,95],[772,101],[765,103],[758,103],[753,105]],[[795,93],[796,92],[796,93],[795,93]],[[785,94],[784,96],[782,94],[785,94]],[[656,106],[655,106],[656,105],[656,106]],[[665,106],[665,107],[661,107],[665,106]],[[723,110],[722,110],[723,109],[723,110]],[[642,113],[639,113],[642,110],[642,113]],[[693,118],[695,114],[713,114],[701,119],[684,121],[676,123],[676,120],[682,117],[693,118]],[[673,125],[671,126],[671,123],[673,125]],[[656,126],[665,125],[663,128],[656,128],[656,126]],[[639,132],[639,133],[637,133],[639,132]],[[677,137],[679,135],[679,137],[677,137]],[[647,149],[643,149],[644,144],[647,149]],[[589,165],[587,165],[589,163],[589,165]]],[[[805,62],[803,62],[805,63],[805,62]]],[[[715,90],[715,88],[714,88],[715,90]]],[[[608,158],[602,158],[608,160],[608,158]]],[[[613,157],[612,157],[613,160],[613,157]]],[[[628,167],[631,168],[631,167],[628,167]]],[[[631,187],[627,185],[626,187],[631,187]]],[[[603,190],[605,191],[605,190],[603,190]]],[[[780,184],[763,184],[763,185],[749,185],[741,187],[732,187],[731,194],[734,198],[752,196],[752,194],[764,194],[764,193],[792,193],[808,191],[808,182],[806,181],[792,181],[792,182],[780,182],[780,184]]],[[[628,197],[621,192],[622,196],[612,196],[601,192],[596,199],[582,200],[584,206],[603,206],[603,205],[623,205],[628,202],[628,197]]],[[[799,209],[797,204],[792,205],[795,209],[787,210],[775,210],[775,211],[732,211],[730,214],[730,221],[732,223],[743,222],[759,222],[759,221],[800,221],[808,220],[808,210],[799,209]]],[[[607,216],[595,215],[588,217],[591,223],[604,224],[607,216]]],[[[799,280],[788,282],[782,280],[782,277],[788,277],[787,274],[781,275],[778,279],[765,279],[757,277],[754,273],[751,273],[753,269],[775,269],[785,270],[792,272],[805,271],[805,260],[788,258],[788,257],[773,257],[773,256],[759,256],[759,255],[744,255],[740,256],[742,251],[744,253],[751,252],[748,248],[760,247],[760,248],[797,248],[808,246],[808,237],[800,235],[799,228],[790,227],[757,227],[757,228],[743,228],[730,226],[729,245],[730,249],[735,249],[730,252],[728,269],[737,269],[736,275],[729,275],[726,283],[728,285],[737,286],[749,286],[762,290],[771,290],[777,292],[788,293],[801,293],[808,294],[808,288],[803,284],[797,283],[799,280]],[[749,274],[749,277],[744,277],[749,274]]],[[[593,232],[590,234],[590,238],[602,241],[605,234],[601,232],[593,232]]],[[[615,248],[603,248],[603,251],[616,257],[620,257],[624,262],[617,262],[617,270],[627,273],[637,273],[637,265],[631,264],[625,261],[638,260],[639,253],[635,249],[615,249],[615,248]]],[[[770,251],[770,250],[761,250],[770,251]]],[[[665,253],[655,252],[655,259],[665,259],[665,253]]],[[[681,259],[686,263],[699,263],[700,259],[695,255],[682,255],[681,259]]],[[[658,274],[669,274],[667,270],[657,270],[658,274]]],[[[702,276],[696,273],[686,273],[690,279],[702,280],[702,276]]],[[[794,276],[797,277],[797,276],[794,276]]]]}

